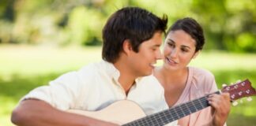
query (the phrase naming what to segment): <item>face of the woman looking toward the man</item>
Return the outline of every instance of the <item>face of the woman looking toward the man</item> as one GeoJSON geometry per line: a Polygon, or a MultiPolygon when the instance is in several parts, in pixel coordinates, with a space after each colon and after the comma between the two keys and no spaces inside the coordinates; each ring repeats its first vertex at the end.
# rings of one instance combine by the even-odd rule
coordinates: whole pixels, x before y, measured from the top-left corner
{"type": "Polygon", "coordinates": [[[196,41],[185,31],[170,31],[164,42],[164,67],[172,70],[186,68],[195,52],[196,41]]]}

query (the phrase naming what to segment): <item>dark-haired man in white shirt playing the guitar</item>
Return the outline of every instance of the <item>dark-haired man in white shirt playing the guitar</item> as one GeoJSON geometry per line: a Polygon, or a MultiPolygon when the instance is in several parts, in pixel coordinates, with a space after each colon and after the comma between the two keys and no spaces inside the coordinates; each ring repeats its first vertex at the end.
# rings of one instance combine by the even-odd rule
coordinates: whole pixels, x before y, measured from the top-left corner
{"type": "Polygon", "coordinates": [[[13,110],[13,124],[115,125],[66,110],[94,111],[122,99],[137,102],[147,114],[167,109],[163,87],[154,80],[145,83],[141,77],[151,75],[161,57],[167,21],[145,9],[119,9],[103,29],[103,61],[68,72],[29,92],[13,110]]]}

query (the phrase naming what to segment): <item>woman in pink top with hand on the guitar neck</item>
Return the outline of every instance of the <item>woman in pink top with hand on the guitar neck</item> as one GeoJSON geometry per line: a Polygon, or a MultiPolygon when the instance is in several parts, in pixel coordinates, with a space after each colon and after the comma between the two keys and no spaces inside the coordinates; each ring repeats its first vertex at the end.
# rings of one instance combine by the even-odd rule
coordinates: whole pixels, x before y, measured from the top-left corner
{"type": "MultiPolygon", "coordinates": [[[[202,28],[192,18],[177,20],[164,42],[164,65],[154,69],[154,76],[164,87],[168,106],[200,98],[217,90],[211,72],[187,66],[205,43],[202,28]]],[[[213,64],[214,65],[214,64],[213,64]]],[[[228,93],[210,95],[212,106],[178,120],[181,126],[225,124],[230,110],[228,93]]]]}

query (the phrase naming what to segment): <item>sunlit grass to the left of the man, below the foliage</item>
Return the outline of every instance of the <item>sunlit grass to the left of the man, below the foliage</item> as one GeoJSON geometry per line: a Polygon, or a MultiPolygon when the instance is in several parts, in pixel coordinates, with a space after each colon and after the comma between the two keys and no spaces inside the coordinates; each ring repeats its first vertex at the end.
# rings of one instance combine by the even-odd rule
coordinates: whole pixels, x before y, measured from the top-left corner
{"type": "Polygon", "coordinates": [[[100,60],[100,47],[53,49],[0,46],[0,125],[11,126],[9,116],[19,99],[49,80],[92,61],[100,60]]]}

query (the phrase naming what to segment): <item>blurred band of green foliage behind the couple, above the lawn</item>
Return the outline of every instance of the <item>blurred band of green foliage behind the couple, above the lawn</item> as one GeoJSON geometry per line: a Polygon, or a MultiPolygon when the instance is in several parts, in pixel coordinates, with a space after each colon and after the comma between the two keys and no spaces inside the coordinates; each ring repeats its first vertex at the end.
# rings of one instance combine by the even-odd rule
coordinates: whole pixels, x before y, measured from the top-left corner
{"type": "Polygon", "coordinates": [[[123,6],[141,6],[169,25],[194,17],[205,29],[206,50],[256,52],[254,0],[3,0],[0,2],[0,43],[99,45],[111,13],[123,6]]]}

